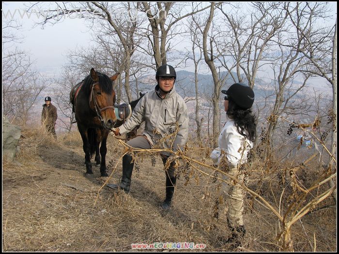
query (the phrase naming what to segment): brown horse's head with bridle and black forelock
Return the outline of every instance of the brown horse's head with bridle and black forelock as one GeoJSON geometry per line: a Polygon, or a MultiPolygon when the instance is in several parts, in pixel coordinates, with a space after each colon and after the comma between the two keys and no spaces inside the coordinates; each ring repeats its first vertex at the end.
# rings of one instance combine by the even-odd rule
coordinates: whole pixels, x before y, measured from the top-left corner
{"type": "Polygon", "coordinates": [[[111,129],[117,121],[114,113],[115,91],[112,81],[118,77],[119,73],[112,77],[95,72],[91,69],[93,84],[91,87],[90,105],[96,111],[103,127],[111,129]]]}

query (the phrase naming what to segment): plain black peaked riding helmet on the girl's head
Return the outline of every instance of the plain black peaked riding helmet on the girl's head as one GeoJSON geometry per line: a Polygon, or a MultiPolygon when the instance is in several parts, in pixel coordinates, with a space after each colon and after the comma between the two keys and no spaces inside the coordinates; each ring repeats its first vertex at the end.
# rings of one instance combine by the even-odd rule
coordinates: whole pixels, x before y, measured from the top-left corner
{"type": "Polygon", "coordinates": [[[254,92],[244,83],[235,83],[228,90],[222,90],[221,92],[241,108],[248,109],[254,103],[254,92]]]}

